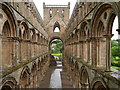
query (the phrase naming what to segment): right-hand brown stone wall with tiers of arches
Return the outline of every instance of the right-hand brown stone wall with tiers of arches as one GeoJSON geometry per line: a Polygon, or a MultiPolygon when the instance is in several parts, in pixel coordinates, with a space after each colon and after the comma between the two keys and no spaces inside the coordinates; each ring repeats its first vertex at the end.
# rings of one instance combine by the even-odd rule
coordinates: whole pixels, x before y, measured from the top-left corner
{"type": "Polygon", "coordinates": [[[115,16],[120,21],[119,12],[119,2],[76,3],[64,42],[64,66],[74,87],[120,88],[119,72],[111,71],[110,58],[111,27],[115,16]]]}

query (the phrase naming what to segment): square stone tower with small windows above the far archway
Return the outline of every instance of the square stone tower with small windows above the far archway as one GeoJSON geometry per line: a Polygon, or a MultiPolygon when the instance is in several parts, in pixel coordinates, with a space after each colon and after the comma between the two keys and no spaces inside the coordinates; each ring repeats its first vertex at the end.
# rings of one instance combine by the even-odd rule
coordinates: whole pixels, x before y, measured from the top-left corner
{"type": "Polygon", "coordinates": [[[51,38],[63,38],[66,25],[69,20],[70,2],[68,5],[45,5],[44,9],[44,24],[48,35],[51,38]],[[54,32],[55,28],[59,28],[59,32],[54,32]],[[54,36],[52,35],[54,33],[54,36]]]}

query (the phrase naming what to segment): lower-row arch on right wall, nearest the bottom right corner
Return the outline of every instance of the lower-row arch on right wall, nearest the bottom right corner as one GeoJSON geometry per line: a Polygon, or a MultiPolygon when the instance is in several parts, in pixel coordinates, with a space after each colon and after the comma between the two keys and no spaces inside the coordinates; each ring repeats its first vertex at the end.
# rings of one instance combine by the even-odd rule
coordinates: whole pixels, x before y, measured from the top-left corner
{"type": "Polygon", "coordinates": [[[92,90],[108,90],[106,82],[101,77],[95,77],[91,82],[92,90]]]}

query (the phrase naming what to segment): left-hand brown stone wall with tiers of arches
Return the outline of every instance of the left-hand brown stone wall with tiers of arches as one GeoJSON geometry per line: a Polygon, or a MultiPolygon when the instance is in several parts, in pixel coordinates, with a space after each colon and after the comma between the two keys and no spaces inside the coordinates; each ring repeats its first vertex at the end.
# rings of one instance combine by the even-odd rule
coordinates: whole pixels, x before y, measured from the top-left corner
{"type": "Polygon", "coordinates": [[[48,35],[34,3],[0,3],[0,88],[36,88],[49,67],[48,35]]]}

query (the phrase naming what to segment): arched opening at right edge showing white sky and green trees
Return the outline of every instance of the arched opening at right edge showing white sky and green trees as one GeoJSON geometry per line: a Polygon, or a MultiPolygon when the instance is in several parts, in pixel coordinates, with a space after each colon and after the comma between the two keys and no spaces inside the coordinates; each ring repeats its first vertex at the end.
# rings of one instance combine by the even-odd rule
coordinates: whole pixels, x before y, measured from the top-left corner
{"type": "Polygon", "coordinates": [[[112,38],[111,38],[111,70],[120,69],[120,45],[119,45],[119,36],[118,32],[118,16],[115,17],[112,26],[112,38]]]}

